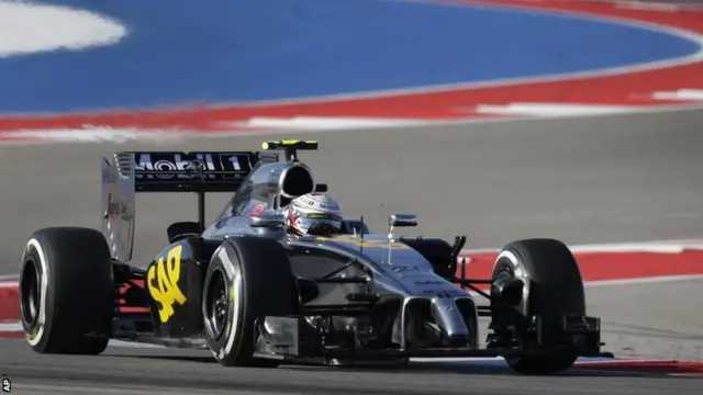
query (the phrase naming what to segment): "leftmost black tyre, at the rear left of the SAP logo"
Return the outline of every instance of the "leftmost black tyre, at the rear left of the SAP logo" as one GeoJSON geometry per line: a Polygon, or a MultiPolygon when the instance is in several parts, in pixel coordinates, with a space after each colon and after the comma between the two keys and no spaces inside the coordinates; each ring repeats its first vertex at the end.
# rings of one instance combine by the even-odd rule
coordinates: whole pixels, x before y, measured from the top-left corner
{"type": "Polygon", "coordinates": [[[34,351],[101,353],[113,311],[112,256],[100,232],[52,227],[30,237],[20,268],[20,312],[34,351]]]}

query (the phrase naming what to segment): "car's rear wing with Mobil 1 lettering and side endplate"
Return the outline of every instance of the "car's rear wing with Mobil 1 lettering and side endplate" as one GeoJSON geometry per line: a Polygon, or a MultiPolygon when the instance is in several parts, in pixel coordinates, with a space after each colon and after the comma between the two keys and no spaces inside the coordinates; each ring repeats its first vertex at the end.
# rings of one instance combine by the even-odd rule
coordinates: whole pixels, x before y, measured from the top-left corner
{"type": "Polygon", "coordinates": [[[253,151],[134,151],[102,158],[102,232],[112,257],[132,259],[135,194],[194,192],[198,219],[204,227],[204,193],[237,191],[259,161],[278,161],[278,155],[253,151]]]}

